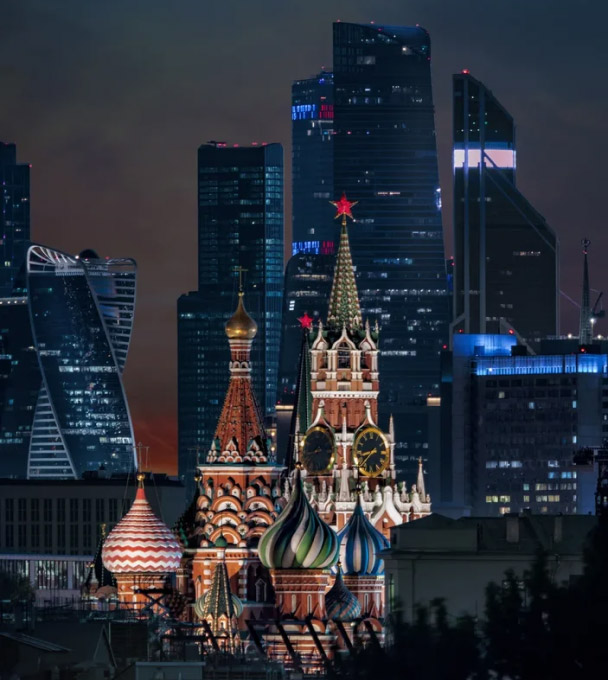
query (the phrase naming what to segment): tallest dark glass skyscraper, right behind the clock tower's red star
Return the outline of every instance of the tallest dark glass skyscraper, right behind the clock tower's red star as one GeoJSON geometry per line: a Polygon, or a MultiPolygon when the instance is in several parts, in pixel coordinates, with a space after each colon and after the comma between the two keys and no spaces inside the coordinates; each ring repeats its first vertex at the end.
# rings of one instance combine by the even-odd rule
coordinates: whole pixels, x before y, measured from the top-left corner
{"type": "Polygon", "coordinates": [[[364,318],[380,325],[380,417],[395,416],[398,467],[428,448],[449,300],[431,45],[420,27],[334,24],[334,195],[349,230],[364,318]]]}

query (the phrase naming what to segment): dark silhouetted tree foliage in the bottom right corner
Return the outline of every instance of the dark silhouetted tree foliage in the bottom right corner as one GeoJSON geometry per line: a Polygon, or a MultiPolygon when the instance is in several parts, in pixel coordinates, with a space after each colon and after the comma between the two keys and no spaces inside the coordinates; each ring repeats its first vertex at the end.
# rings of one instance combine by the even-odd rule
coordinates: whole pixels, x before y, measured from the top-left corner
{"type": "Polygon", "coordinates": [[[384,649],[358,647],[337,667],[358,680],[589,680],[608,669],[608,520],[588,537],[583,575],[558,584],[558,556],[539,554],[523,579],[486,589],[483,622],[449,617],[442,600],[397,617],[384,649]]]}

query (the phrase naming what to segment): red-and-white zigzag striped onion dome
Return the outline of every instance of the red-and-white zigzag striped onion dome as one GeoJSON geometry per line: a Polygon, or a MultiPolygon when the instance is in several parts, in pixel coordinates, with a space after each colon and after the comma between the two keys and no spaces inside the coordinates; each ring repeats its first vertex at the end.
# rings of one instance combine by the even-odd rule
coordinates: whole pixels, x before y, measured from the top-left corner
{"type": "Polygon", "coordinates": [[[146,500],[143,475],[137,479],[139,484],[131,509],[103,544],[103,564],[113,574],[173,573],[179,567],[182,549],[146,500]]]}

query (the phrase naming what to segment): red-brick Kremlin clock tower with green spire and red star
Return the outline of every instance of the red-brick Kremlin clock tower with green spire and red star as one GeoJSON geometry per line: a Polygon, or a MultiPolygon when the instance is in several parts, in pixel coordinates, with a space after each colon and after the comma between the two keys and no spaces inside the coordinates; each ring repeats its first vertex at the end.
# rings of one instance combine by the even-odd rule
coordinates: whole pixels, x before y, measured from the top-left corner
{"type": "Polygon", "coordinates": [[[309,356],[302,358],[305,384],[298,390],[292,456],[302,464],[311,501],[326,522],[342,529],[360,488],[372,524],[388,536],[391,526],[429,514],[430,499],[421,463],[410,491],[396,479],[392,418],[388,431],[378,422],[379,329],[362,319],[350,253],[347,218],[353,219],[356,202],[343,195],[332,204],[342,220],[340,246],[327,323],[314,329],[307,316],[301,319],[309,356]]]}

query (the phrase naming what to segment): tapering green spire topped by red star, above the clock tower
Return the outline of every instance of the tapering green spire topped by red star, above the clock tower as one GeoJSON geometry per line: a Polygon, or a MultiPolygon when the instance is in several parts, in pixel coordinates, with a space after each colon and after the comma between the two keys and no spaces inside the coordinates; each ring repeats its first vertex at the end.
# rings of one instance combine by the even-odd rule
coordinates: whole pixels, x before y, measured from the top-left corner
{"type": "Polygon", "coordinates": [[[338,210],[336,219],[342,218],[342,226],[334,281],[329,298],[328,324],[338,329],[344,326],[347,329],[358,328],[362,325],[361,308],[346,226],[346,218],[353,219],[351,208],[356,205],[356,202],[348,201],[345,194],[342,194],[339,201],[330,202],[336,206],[338,210]]]}

